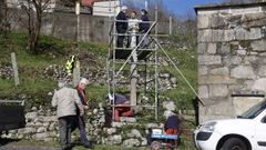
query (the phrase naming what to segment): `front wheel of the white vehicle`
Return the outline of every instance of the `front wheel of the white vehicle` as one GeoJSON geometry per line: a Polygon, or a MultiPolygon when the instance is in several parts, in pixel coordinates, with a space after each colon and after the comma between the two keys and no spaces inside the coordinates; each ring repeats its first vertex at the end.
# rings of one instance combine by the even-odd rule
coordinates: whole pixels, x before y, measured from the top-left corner
{"type": "Polygon", "coordinates": [[[229,138],[225,141],[222,150],[248,150],[246,143],[238,138],[229,138]]]}

